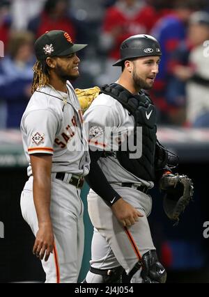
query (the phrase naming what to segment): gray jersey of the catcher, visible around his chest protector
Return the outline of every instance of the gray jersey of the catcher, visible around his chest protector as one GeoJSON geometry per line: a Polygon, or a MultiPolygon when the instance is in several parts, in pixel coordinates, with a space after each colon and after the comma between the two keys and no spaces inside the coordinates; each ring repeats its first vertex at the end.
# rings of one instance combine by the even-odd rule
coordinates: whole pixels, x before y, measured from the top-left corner
{"type": "MultiPolygon", "coordinates": [[[[91,150],[118,149],[118,137],[123,139],[134,129],[134,117],[129,115],[127,109],[109,95],[100,94],[84,113],[84,120],[88,128],[88,142],[91,150]]],[[[121,166],[114,156],[100,158],[98,161],[102,172],[110,184],[118,182],[132,182],[144,184],[150,188],[153,182],[139,179],[121,166]]]]}

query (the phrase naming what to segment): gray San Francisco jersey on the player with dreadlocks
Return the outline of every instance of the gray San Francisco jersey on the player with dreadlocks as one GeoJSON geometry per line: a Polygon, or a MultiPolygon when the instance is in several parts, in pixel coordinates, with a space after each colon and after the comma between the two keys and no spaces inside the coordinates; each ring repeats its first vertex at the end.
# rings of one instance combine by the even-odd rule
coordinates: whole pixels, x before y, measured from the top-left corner
{"type": "Polygon", "coordinates": [[[69,96],[49,86],[33,93],[21,122],[24,152],[28,161],[29,154],[53,154],[52,172],[85,176],[89,156],[82,111],[69,82],[67,86],[69,96]]]}

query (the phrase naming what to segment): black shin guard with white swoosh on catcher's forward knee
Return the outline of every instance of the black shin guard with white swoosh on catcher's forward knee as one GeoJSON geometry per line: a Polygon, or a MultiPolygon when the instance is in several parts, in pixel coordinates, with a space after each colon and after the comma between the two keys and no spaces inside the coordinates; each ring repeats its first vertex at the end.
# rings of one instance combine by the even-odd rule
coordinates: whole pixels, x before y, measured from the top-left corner
{"type": "Polygon", "coordinates": [[[139,262],[132,268],[129,276],[132,276],[141,268],[141,278],[142,282],[145,283],[159,283],[166,282],[167,272],[165,268],[160,264],[157,259],[157,254],[155,250],[149,250],[144,254],[139,262]]]}

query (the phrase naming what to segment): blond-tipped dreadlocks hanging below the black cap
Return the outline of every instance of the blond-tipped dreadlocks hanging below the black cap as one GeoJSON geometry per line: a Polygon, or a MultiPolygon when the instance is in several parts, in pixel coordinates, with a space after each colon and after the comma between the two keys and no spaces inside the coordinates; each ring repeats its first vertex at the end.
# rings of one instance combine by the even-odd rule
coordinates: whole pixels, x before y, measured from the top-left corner
{"type": "Polygon", "coordinates": [[[33,83],[31,93],[33,94],[38,88],[49,85],[49,74],[45,61],[37,61],[33,66],[33,83]]]}

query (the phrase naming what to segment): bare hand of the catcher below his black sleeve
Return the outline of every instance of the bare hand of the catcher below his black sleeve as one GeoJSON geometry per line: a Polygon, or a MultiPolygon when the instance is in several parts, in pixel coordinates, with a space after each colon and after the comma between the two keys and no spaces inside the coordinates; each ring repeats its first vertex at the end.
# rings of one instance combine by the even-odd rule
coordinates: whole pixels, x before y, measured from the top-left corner
{"type": "Polygon", "coordinates": [[[134,225],[140,217],[144,216],[123,198],[116,201],[111,207],[114,215],[124,227],[134,225]]]}

